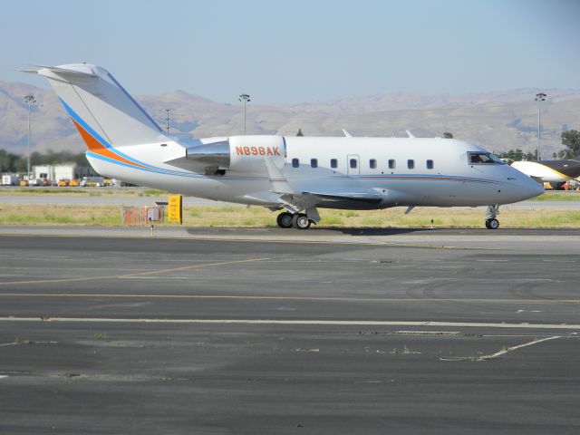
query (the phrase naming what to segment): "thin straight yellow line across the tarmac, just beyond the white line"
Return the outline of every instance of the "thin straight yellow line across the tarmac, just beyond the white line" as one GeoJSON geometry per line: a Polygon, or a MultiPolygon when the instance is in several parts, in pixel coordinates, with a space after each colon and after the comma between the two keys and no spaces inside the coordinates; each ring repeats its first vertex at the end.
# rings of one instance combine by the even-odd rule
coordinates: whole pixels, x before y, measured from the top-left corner
{"type": "MultiPolygon", "coordinates": [[[[215,266],[215,265],[207,265],[215,266]]],[[[164,273],[160,271],[158,273],[164,273]]],[[[126,275],[120,275],[126,276],[126,275]]],[[[116,276],[118,277],[118,276],[116,276]]],[[[106,294],[106,293],[1,293],[3,297],[31,297],[31,298],[99,298],[99,299],[233,299],[259,301],[307,301],[307,302],[348,302],[348,303],[402,303],[414,302],[466,302],[469,304],[580,304],[580,299],[469,299],[460,297],[341,297],[341,296],[266,296],[266,295],[144,295],[144,294],[106,294]]]]}

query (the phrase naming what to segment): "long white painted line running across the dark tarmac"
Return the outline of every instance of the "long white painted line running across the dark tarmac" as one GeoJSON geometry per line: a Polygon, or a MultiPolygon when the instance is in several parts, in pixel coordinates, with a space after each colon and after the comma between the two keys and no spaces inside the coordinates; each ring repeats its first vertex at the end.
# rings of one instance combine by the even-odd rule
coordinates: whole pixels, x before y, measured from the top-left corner
{"type": "Polygon", "coordinates": [[[274,320],[274,319],[157,319],[113,317],[0,317],[0,322],[70,322],[109,324],[287,324],[313,326],[440,326],[502,329],[580,330],[580,324],[497,324],[472,322],[388,321],[388,320],[274,320]]]}

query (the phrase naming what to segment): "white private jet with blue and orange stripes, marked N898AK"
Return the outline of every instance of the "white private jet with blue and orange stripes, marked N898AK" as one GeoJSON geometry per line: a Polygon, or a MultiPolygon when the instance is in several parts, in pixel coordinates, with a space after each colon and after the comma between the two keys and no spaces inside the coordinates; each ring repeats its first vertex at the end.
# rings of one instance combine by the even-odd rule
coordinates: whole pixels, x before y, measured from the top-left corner
{"type": "Polygon", "coordinates": [[[284,210],[280,227],[318,223],[318,208],[498,207],[544,189],[461,140],[166,134],[111,73],[85,63],[41,66],[101,175],[183,195],[284,210]]]}

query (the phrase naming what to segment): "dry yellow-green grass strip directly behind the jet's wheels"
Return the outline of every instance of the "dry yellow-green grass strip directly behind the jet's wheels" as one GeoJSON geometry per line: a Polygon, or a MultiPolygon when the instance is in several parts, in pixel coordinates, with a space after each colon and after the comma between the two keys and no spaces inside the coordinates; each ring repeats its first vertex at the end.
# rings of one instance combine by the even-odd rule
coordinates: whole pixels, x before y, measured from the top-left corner
{"type": "MultiPolygon", "coordinates": [[[[404,215],[404,208],[354,211],[321,209],[318,227],[483,227],[484,208],[415,208],[404,215]]],[[[184,208],[185,227],[276,227],[276,212],[260,207],[184,208]]],[[[580,211],[502,209],[501,227],[513,228],[580,228],[580,211]]],[[[0,225],[82,225],[121,226],[118,206],[40,206],[1,204],[0,225]]],[[[175,224],[158,223],[171,227],[175,224]]]]}

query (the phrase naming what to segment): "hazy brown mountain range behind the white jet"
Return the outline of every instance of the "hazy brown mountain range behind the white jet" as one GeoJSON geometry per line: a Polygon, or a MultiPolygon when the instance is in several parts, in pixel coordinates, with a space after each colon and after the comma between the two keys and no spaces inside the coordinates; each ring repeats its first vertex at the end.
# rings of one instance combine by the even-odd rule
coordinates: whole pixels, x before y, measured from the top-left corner
{"type": "MultiPolygon", "coordinates": [[[[247,106],[248,134],[340,136],[342,129],[355,136],[440,136],[478,143],[488,150],[535,150],[537,131],[536,89],[465,95],[426,95],[393,92],[328,102],[247,106]]],[[[580,91],[544,90],[542,153],[551,157],[561,150],[560,133],[580,130],[580,91]]],[[[0,148],[24,153],[27,106],[24,96],[33,93],[32,149],[84,150],[82,140],[56,95],[24,83],[0,82],[0,148]]],[[[170,109],[170,131],[195,137],[227,136],[244,131],[240,104],[212,102],[188,92],[137,95],[146,111],[165,128],[170,109]]]]}

